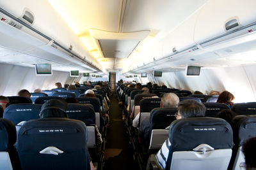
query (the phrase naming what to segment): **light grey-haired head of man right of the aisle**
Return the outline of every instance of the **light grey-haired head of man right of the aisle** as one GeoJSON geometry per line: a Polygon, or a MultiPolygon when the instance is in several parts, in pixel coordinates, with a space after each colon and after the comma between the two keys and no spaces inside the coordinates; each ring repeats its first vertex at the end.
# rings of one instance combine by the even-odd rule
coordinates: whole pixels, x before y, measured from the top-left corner
{"type": "Polygon", "coordinates": [[[161,108],[177,108],[179,97],[174,93],[166,93],[161,97],[161,108]]]}

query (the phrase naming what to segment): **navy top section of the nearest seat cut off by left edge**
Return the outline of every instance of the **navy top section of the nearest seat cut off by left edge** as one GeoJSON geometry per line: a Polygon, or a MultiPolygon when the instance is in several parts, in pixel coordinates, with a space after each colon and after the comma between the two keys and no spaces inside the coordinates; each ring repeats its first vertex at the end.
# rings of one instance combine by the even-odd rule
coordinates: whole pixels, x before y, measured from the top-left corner
{"type": "Polygon", "coordinates": [[[0,151],[6,151],[16,142],[16,129],[12,121],[0,118],[0,151]]]}

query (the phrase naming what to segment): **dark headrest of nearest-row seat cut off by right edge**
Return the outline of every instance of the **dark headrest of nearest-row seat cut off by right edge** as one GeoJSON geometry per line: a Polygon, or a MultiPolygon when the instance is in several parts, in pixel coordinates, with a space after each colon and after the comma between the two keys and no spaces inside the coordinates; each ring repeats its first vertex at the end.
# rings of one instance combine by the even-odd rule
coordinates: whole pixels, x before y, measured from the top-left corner
{"type": "Polygon", "coordinates": [[[243,146],[244,141],[256,137],[256,115],[238,115],[231,122],[234,143],[243,146]]]}

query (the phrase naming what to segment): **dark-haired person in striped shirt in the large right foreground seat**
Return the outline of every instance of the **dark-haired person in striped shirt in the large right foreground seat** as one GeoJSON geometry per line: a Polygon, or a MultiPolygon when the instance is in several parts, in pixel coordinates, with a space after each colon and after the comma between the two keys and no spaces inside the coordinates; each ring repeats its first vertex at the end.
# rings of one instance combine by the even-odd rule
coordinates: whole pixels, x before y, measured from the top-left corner
{"type": "MultiPolygon", "coordinates": [[[[177,120],[180,118],[204,117],[206,111],[204,104],[198,103],[198,101],[195,100],[180,101],[178,109],[178,112],[175,114],[177,120]]],[[[165,169],[170,146],[170,140],[167,139],[161,149],[156,153],[156,156],[150,155],[148,160],[155,160],[155,162],[158,163],[157,166],[165,169]]],[[[147,169],[148,166],[149,164],[147,164],[147,169]]]]}

